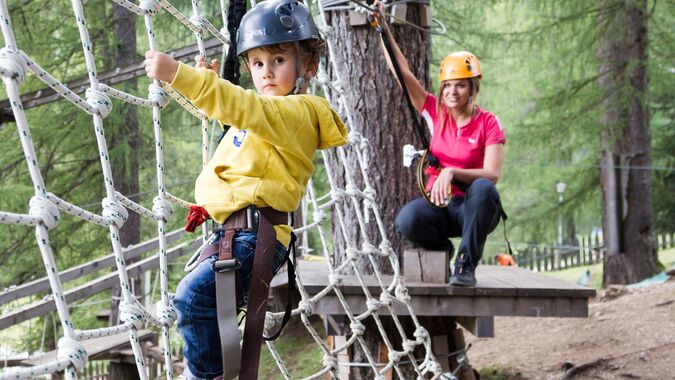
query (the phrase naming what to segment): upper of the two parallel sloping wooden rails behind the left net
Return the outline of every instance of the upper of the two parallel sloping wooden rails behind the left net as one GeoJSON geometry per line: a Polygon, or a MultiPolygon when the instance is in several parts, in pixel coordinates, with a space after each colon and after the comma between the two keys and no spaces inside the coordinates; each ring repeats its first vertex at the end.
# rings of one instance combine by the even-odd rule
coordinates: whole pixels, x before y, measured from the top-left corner
{"type": "MultiPolygon", "coordinates": [[[[183,229],[177,229],[169,232],[166,235],[166,244],[172,244],[184,234],[183,229]]],[[[155,238],[142,242],[137,245],[132,245],[127,248],[123,248],[122,252],[125,260],[134,260],[147,253],[153,249],[159,247],[159,239],[155,238]]],[[[61,283],[68,282],[70,280],[80,278],[84,275],[99,271],[105,268],[112,268],[115,266],[115,255],[110,254],[100,259],[84,263],[70,269],[59,272],[59,278],[61,283]]],[[[28,282],[26,284],[13,287],[11,290],[0,293],[0,306],[5,305],[11,301],[17,300],[22,297],[33,295],[39,292],[50,291],[51,287],[49,285],[49,279],[43,277],[35,281],[28,282]]]]}

